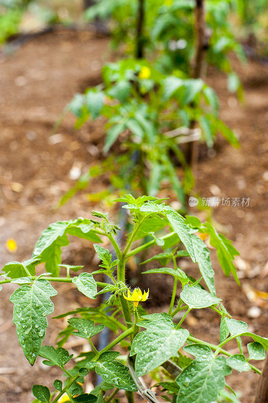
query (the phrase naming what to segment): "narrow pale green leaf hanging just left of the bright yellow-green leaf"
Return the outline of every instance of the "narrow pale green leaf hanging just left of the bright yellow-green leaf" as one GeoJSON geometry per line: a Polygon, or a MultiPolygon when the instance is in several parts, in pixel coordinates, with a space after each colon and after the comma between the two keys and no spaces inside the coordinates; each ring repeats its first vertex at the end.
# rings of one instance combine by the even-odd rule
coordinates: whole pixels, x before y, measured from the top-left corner
{"type": "Polygon", "coordinates": [[[211,264],[210,251],[206,247],[202,239],[200,239],[196,235],[192,235],[192,244],[194,256],[198,263],[200,273],[202,274],[210,292],[216,295],[214,284],[214,270],[211,264]]]}

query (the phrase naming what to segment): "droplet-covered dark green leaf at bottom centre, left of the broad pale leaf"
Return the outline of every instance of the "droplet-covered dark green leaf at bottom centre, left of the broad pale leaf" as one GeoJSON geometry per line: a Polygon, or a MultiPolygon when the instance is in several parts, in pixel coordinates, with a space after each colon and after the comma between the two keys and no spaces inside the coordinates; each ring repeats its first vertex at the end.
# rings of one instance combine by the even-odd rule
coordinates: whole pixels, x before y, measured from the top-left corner
{"type": "Polygon", "coordinates": [[[137,387],[128,368],[120,362],[113,361],[120,353],[109,351],[101,354],[97,362],[90,361],[86,364],[89,369],[95,368],[105,382],[112,383],[115,387],[124,390],[136,391],[137,387]]]}

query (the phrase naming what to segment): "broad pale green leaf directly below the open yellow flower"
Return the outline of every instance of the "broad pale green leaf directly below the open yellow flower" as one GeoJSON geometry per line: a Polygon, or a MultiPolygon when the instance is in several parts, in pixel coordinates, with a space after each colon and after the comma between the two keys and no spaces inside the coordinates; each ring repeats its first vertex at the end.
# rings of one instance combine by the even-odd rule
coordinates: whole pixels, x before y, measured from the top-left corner
{"type": "MultiPolygon", "coordinates": [[[[159,319],[152,317],[152,319],[142,323],[142,326],[146,327],[147,330],[138,333],[133,341],[135,352],[137,352],[135,360],[137,376],[152,371],[176,355],[189,336],[188,330],[175,329],[170,315],[166,314],[159,319]]],[[[141,323],[139,323],[140,325],[141,323]]]]}

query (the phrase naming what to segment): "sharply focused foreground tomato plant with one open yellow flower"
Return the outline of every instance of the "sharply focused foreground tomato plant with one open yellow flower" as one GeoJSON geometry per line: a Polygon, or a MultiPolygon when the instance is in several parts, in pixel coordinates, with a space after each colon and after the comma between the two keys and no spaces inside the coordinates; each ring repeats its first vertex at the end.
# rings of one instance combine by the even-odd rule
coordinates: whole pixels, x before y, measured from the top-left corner
{"type": "Polygon", "coordinates": [[[211,403],[225,386],[231,389],[225,378],[232,370],[260,373],[250,361],[265,357],[268,339],[250,332],[245,322],[236,320],[227,312],[217,296],[209,249],[196,233],[210,236],[225,275],[232,273],[239,283],[233,263],[238,252],[231,242],[218,234],[210,223],[202,224],[191,216],[184,219],[162,203],[162,199],[152,196],[136,199],[126,195],[117,201],[124,203],[123,208],[129,210],[132,219],[132,229],[123,248],[116,241],[119,227],[112,224],[107,215],[93,211],[94,219],[79,218],[51,224],[42,232],[29,260],[10,262],[3,268],[5,280],[1,284],[19,285],[10,301],[14,304],[13,321],[26,358],[34,365],[40,356],[45,365],[57,366],[65,377],[63,382],[60,379],[54,381],[53,390],[42,384],[34,385],[34,401],[56,402],[63,396],[64,401],[71,403],[107,403],[119,389],[123,389],[129,403],[133,402],[133,392],[137,391],[148,401],[157,403],[155,393],[140,379],[150,374],[152,379],[157,379],[159,393],[168,401],[211,403]],[[73,276],[73,272],[82,270],[83,266],[61,262],[61,248],[69,244],[68,235],[94,242],[101,261],[97,271],[73,276]],[[141,242],[146,236],[152,240],[141,242]],[[114,257],[110,250],[100,245],[105,238],[114,250],[114,257]],[[159,264],[144,274],[162,273],[173,278],[173,289],[167,290],[170,294],[168,313],[148,314],[145,308],[150,290],[130,290],[125,283],[129,258],[154,245],[161,247],[162,252],[154,254],[150,261],[159,264]],[[181,256],[188,256],[198,264],[200,278],[193,279],[178,267],[181,256]],[[36,276],[35,267],[41,262],[45,263],[46,272],[36,276]],[[60,276],[60,267],[61,272],[66,272],[65,276],[60,276]],[[100,273],[109,281],[96,282],[94,276],[100,273]],[[85,306],[58,316],[68,316],[69,320],[68,327],[60,333],[56,349],[42,346],[47,328],[46,316],[54,308],[51,298],[57,294],[51,285],[54,282],[72,283],[89,299],[110,293],[108,300],[96,308],[85,306]],[[185,327],[184,319],[192,309],[207,308],[221,318],[219,344],[216,345],[196,338],[185,327]],[[105,326],[113,330],[115,336],[98,351],[92,338],[105,326]],[[91,351],[82,352],[78,357],[70,355],[63,346],[71,334],[88,340],[91,351]],[[244,336],[252,339],[247,345],[247,358],[241,342],[244,336]],[[224,349],[232,340],[237,341],[240,353],[231,354],[224,349]],[[102,376],[103,382],[90,393],[85,393],[84,378],[90,371],[102,376]],[[110,390],[109,394],[107,390],[110,390]]]}

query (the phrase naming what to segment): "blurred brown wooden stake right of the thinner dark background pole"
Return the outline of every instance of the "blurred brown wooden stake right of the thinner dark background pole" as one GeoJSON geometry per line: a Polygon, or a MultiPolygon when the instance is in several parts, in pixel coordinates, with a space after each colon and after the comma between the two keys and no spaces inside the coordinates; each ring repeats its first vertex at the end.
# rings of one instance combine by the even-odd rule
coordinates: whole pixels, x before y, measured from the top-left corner
{"type": "MultiPolygon", "coordinates": [[[[195,56],[191,73],[193,79],[198,79],[202,76],[205,51],[208,47],[208,38],[205,37],[206,24],[204,3],[205,0],[195,0],[195,56]]],[[[190,128],[193,129],[194,127],[195,120],[192,120],[190,122],[190,128]]],[[[189,143],[186,154],[187,161],[193,168],[198,160],[198,143],[189,143]]]]}

